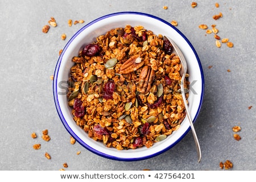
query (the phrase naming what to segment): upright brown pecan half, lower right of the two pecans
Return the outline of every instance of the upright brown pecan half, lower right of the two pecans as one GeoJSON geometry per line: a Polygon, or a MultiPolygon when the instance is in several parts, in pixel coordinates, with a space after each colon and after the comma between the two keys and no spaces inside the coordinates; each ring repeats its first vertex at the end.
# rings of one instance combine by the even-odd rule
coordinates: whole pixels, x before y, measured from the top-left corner
{"type": "Polygon", "coordinates": [[[155,71],[147,65],[144,66],[139,75],[138,91],[142,94],[147,94],[151,88],[151,84],[155,77],[155,71]]]}

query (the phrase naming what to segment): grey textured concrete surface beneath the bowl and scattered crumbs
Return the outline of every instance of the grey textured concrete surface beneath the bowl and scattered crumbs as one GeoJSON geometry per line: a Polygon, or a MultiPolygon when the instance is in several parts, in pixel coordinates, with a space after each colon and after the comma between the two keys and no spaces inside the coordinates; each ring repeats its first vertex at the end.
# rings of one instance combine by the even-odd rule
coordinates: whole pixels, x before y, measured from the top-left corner
{"type": "Polygon", "coordinates": [[[215,1],[0,1],[0,169],[1,170],[224,170],[219,163],[230,160],[231,170],[256,169],[256,5],[250,0],[215,1]],[[168,6],[167,10],[163,6],[168,6]],[[195,47],[204,69],[205,97],[195,129],[202,160],[197,163],[191,131],[175,147],[155,158],[118,162],[69,143],[69,134],[57,115],[52,94],[55,65],[62,49],[76,31],[92,20],[118,11],[139,11],[176,20],[177,28],[195,47]],[[213,15],[223,17],[214,20],[213,15]],[[57,27],[47,34],[42,27],[50,17],[57,27]],[[68,26],[68,19],[84,24],[68,26]],[[216,24],[218,35],[229,38],[233,48],[215,46],[213,34],[199,24],[216,24]],[[61,40],[61,34],[67,34],[61,40]],[[212,66],[212,68],[208,68],[212,66]],[[228,72],[228,69],[230,72],[228,72]],[[251,109],[248,109],[249,106],[251,109]],[[233,138],[233,126],[241,126],[241,140],[233,138]],[[51,140],[42,140],[48,129],[51,140]],[[31,133],[38,134],[32,139],[31,133]],[[40,150],[33,144],[41,143],[40,150]],[[80,155],[76,155],[81,151],[80,155]],[[48,152],[52,159],[44,154],[48,152]]]}

